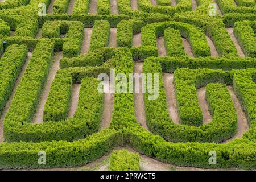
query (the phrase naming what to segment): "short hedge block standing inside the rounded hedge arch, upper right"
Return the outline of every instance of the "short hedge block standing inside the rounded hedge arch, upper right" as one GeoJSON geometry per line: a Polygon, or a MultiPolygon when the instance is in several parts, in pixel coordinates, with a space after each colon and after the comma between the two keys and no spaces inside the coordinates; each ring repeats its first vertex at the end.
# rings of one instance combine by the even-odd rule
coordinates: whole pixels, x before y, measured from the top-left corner
{"type": "Polygon", "coordinates": [[[167,56],[180,57],[187,55],[184,51],[179,30],[175,30],[174,28],[166,28],[166,30],[164,30],[164,45],[166,47],[167,56]]]}

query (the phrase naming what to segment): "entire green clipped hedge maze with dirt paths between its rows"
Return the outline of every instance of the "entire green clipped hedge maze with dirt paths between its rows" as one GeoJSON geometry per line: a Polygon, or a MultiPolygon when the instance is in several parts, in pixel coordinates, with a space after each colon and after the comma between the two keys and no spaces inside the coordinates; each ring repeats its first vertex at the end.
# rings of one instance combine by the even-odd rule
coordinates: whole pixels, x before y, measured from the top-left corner
{"type": "Polygon", "coordinates": [[[0,168],[78,167],[111,153],[109,170],[142,169],[140,155],[182,167],[255,169],[255,5],[0,2],[0,168]],[[98,92],[98,76],[111,80],[113,69],[127,78],[158,75],[158,97],[138,88],[98,92]]]}

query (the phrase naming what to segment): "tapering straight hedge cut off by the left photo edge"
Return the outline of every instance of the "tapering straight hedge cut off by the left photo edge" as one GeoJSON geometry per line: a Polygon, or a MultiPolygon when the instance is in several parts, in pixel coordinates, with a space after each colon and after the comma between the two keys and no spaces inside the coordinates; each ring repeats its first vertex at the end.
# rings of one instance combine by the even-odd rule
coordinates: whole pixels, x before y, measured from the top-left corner
{"type": "Polygon", "coordinates": [[[0,61],[0,113],[5,107],[16,79],[25,63],[27,46],[9,46],[0,61]]]}

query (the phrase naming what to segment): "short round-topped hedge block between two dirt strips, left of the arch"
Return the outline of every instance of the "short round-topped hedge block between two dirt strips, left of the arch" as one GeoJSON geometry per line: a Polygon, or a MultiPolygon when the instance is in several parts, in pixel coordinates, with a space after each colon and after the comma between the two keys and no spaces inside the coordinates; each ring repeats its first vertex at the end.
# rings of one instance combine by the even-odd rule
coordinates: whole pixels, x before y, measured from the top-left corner
{"type": "Polygon", "coordinates": [[[92,36],[90,38],[90,51],[106,47],[109,44],[110,24],[99,20],[94,23],[92,36]]]}

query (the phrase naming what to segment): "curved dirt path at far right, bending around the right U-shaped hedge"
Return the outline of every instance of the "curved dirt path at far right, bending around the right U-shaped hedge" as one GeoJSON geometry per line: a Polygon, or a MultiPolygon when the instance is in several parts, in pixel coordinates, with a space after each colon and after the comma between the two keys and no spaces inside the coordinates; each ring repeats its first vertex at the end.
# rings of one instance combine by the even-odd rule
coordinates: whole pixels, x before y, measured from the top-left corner
{"type": "Polygon", "coordinates": [[[230,93],[231,99],[233,101],[234,107],[236,107],[236,110],[237,110],[237,132],[232,138],[226,140],[224,143],[228,143],[231,140],[234,140],[236,138],[241,138],[243,133],[245,133],[245,131],[249,130],[249,123],[246,118],[246,114],[243,111],[242,106],[241,106],[236,94],[234,93],[233,86],[228,86],[228,89],[229,89],[229,93],[230,93]]]}

